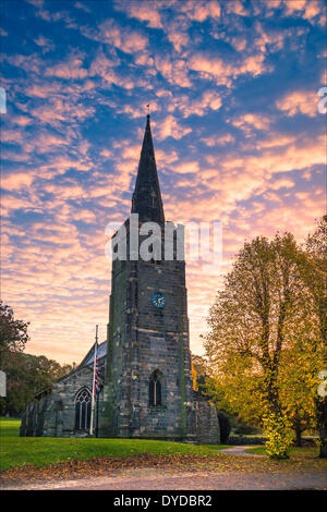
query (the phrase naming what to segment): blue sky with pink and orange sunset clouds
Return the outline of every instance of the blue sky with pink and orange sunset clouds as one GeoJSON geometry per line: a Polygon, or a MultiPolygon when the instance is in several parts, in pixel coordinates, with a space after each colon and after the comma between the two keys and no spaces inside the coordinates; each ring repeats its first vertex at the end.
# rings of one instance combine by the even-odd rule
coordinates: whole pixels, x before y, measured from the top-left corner
{"type": "Polygon", "coordinates": [[[146,105],[166,219],[222,224],[186,261],[191,350],[244,240],[326,211],[320,0],[2,0],[2,300],[25,352],[78,363],[106,339],[108,222],[130,214],[146,105]]]}

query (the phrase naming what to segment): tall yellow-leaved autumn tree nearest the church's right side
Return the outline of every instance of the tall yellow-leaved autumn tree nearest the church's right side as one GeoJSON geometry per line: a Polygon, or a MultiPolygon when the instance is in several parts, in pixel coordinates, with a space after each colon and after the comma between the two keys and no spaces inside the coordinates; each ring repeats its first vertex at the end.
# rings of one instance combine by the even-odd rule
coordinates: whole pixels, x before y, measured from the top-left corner
{"type": "Polygon", "coordinates": [[[221,407],[261,422],[278,458],[288,456],[291,443],[280,368],[303,302],[300,254],[290,233],[245,243],[210,309],[205,341],[221,407]]]}

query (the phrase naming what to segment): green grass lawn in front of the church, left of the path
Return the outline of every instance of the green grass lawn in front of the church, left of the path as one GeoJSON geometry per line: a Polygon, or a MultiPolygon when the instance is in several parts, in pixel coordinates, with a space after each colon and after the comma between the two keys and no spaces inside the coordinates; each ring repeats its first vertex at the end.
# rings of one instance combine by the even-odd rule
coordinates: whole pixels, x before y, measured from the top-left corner
{"type": "Polygon", "coordinates": [[[181,442],[137,439],[73,439],[19,437],[20,419],[0,418],[0,470],[33,464],[43,467],[58,462],[96,458],[128,458],[138,454],[215,455],[225,446],[193,446],[181,442]]]}

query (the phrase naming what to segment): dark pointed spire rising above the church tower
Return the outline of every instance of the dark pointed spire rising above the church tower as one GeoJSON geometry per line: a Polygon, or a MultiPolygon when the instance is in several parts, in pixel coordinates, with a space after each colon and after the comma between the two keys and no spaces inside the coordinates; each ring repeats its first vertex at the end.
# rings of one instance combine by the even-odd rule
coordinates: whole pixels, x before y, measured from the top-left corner
{"type": "Polygon", "coordinates": [[[132,198],[132,214],[138,214],[141,222],[165,223],[149,118],[149,114],[147,114],[137,178],[132,198]]]}

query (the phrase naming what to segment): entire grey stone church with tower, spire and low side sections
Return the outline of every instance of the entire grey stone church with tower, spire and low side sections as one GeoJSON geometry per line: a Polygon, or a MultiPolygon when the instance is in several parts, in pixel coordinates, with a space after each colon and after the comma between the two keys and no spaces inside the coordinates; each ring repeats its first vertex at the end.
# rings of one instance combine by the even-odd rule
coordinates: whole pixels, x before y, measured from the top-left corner
{"type": "Polygon", "coordinates": [[[94,414],[95,346],[69,375],[35,395],[20,435],[87,437],[93,417],[96,437],[218,443],[217,411],[193,389],[185,261],[178,255],[178,228],[165,220],[149,114],[131,216],[122,228],[112,236],[109,322],[107,340],[97,346],[94,414]],[[135,217],[136,257],[130,246],[135,217]],[[158,257],[153,251],[152,257],[140,257],[145,223],[161,228],[162,247],[167,232],[173,233],[172,256],[167,258],[164,251],[158,257]],[[114,251],[122,231],[126,256],[119,258],[114,251]]]}

